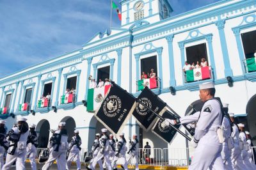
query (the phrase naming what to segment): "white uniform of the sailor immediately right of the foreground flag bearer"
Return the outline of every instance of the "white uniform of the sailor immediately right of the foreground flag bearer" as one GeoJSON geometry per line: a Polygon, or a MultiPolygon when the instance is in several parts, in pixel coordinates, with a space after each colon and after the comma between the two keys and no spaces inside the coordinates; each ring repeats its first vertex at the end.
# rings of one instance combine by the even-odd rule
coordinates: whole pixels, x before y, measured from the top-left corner
{"type": "Polygon", "coordinates": [[[225,137],[224,143],[222,143],[222,151],[221,151],[221,157],[223,160],[223,164],[225,166],[225,170],[232,170],[232,163],[231,163],[231,149],[234,148],[234,146],[230,146],[230,143],[228,143],[228,140],[231,139],[231,127],[230,127],[230,121],[226,116],[224,116],[221,127],[223,129],[223,134],[225,137]]]}

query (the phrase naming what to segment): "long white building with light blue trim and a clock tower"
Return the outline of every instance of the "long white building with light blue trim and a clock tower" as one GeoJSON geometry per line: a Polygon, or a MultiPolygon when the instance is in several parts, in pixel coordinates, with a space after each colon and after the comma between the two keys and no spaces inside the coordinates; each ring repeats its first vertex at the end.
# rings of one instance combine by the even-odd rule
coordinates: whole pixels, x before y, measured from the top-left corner
{"type": "MultiPolygon", "coordinates": [[[[81,49],[0,79],[0,108],[7,108],[0,118],[8,121],[8,128],[17,117],[28,118],[40,132],[40,147],[45,147],[51,135],[48,130],[66,121],[70,136],[76,127],[83,148],[90,148],[102,125],[82,102],[90,86],[88,77],[109,78],[138,96],[141,73],[154,68],[159,86],[153,91],[180,116],[198,100],[198,84],[213,81],[216,96],[240,120],[246,121],[241,116],[250,118],[246,128],[252,137],[256,135],[255,123],[250,123],[256,120],[256,72],[248,72],[245,62],[256,50],[255,0],[223,0],[176,16],[167,0],[122,0],[120,5],[120,27],[96,33],[81,49]],[[187,82],[184,62],[200,58],[207,60],[211,78],[187,82]],[[67,88],[76,89],[74,102],[61,104],[67,88]],[[49,107],[38,108],[38,100],[47,93],[51,94],[49,107]],[[19,110],[24,103],[29,111],[19,110]]],[[[124,132],[126,138],[140,134],[141,146],[147,141],[152,148],[186,148],[189,144],[181,135],[171,144],[164,143],[152,132],[143,131],[134,118],[124,132]]]]}

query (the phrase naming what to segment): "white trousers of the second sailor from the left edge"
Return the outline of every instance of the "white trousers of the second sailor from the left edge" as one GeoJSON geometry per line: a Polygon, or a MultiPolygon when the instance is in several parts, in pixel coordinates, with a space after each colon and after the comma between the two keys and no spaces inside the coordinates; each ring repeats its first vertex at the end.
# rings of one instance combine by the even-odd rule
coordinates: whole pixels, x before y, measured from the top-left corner
{"type": "Polygon", "coordinates": [[[25,170],[25,159],[26,159],[26,150],[19,150],[16,148],[14,155],[7,154],[6,162],[2,170],[10,169],[12,164],[16,161],[16,170],[25,170]]]}

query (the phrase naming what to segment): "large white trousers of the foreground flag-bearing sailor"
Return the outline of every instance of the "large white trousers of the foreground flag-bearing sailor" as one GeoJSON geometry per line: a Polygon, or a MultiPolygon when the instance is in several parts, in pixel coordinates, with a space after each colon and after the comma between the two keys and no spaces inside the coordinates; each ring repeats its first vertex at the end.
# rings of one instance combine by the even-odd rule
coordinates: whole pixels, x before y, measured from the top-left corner
{"type": "Polygon", "coordinates": [[[207,132],[198,142],[189,170],[224,169],[221,150],[216,132],[207,132]]]}

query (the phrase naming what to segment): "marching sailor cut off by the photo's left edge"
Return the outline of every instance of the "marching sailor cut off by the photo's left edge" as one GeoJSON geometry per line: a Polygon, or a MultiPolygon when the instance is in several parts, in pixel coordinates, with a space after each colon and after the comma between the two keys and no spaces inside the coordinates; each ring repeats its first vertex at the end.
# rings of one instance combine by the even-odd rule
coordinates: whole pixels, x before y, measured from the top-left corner
{"type": "Polygon", "coordinates": [[[4,166],[4,153],[8,150],[8,142],[6,141],[6,121],[0,120],[0,169],[4,166]]]}

